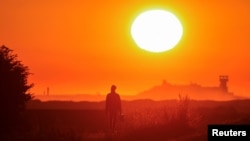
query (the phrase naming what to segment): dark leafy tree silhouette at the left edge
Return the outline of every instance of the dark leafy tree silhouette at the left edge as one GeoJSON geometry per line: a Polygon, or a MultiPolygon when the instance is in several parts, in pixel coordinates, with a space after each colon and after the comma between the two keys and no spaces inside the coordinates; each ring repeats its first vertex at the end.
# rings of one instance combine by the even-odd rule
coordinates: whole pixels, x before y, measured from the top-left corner
{"type": "Polygon", "coordinates": [[[27,101],[32,99],[28,84],[30,75],[27,66],[24,66],[13,54],[13,50],[6,46],[0,47],[0,134],[8,133],[16,126],[21,112],[27,101]]]}

